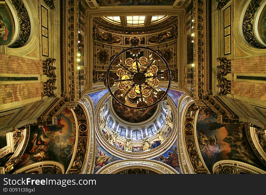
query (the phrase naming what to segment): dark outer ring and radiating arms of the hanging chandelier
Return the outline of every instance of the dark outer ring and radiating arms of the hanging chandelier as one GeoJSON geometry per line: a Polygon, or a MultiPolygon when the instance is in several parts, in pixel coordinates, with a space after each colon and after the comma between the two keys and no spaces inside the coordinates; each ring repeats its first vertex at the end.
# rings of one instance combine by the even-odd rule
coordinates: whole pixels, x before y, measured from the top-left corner
{"type": "MultiPolygon", "coordinates": [[[[171,73],[170,73],[170,67],[169,67],[167,61],[162,56],[160,50],[154,50],[154,49],[151,49],[151,48],[146,47],[146,46],[132,45],[131,47],[128,47],[128,48],[122,50],[121,52],[119,52],[115,56],[112,56],[110,60],[111,60],[111,62],[109,64],[109,66],[108,66],[107,73],[106,73],[105,86],[107,86],[111,96],[115,99],[116,102],[118,102],[119,104],[121,104],[123,106],[126,106],[128,108],[131,108],[131,109],[148,109],[148,108],[151,108],[152,106],[157,105],[159,102],[167,99],[167,93],[168,93],[168,91],[170,89],[170,85],[171,85],[171,73]],[[150,62],[148,62],[148,60],[146,61],[146,63],[148,63],[147,66],[143,66],[143,64],[141,64],[139,62],[141,60],[138,59],[138,55],[137,54],[139,53],[139,51],[141,49],[148,50],[148,51],[152,52],[152,58],[150,59],[150,62]],[[135,65],[136,65],[136,67],[135,67],[136,70],[135,71],[133,70],[132,65],[131,65],[131,67],[127,67],[128,63],[126,63],[125,65],[123,63],[121,63],[120,56],[122,54],[124,54],[125,52],[129,51],[129,50],[132,52],[133,57],[135,57],[135,59],[132,59],[133,61],[135,61],[135,65]],[[154,70],[155,69],[155,67],[154,67],[155,65],[152,65],[152,64],[156,60],[162,60],[164,62],[164,64],[165,64],[167,69],[164,70],[163,74],[157,74],[156,71],[154,70]],[[118,66],[118,65],[121,66],[121,70],[125,70],[128,73],[130,73],[130,76],[133,76],[133,78],[122,79],[121,80],[121,74],[120,74],[118,80],[114,80],[112,77],[109,77],[111,68],[113,66],[118,66]],[[139,66],[141,66],[141,68],[139,66]],[[142,70],[142,67],[145,67],[145,69],[142,70]],[[151,68],[151,70],[154,70],[153,72],[155,72],[155,74],[153,76],[148,76],[149,75],[148,74],[149,73],[148,69],[150,69],[150,68],[151,68]],[[163,91],[163,90],[158,89],[155,85],[150,85],[149,84],[150,80],[147,80],[147,79],[150,79],[150,78],[154,79],[155,78],[155,82],[156,82],[158,80],[157,78],[158,77],[162,77],[162,76],[164,77],[165,80],[168,79],[168,85],[167,85],[167,88],[166,88],[166,90],[164,91],[163,94],[162,94],[162,92],[160,92],[160,94],[158,94],[159,91],[163,91]],[[122,81],[133,81],[133,84],[126,91],[126,93],[124,94],[124,97],[120,96],[119,99],[118,99],[118,97],[116,97],[115,94],[112,92],[111,87],[114,85],[115,82],[121,83],[122,81]],[[140,104],[138,103],[138,105],[137,105],[138,107],[137,106],[134,107],[134,106],[130,106],[130,105],[125,104],[125,97],[129,94],[129,92],[133,88],[135,90],[136,86],[138,86],[139,94],[137,93],[135,95],[139,96],[140,99],[141,99],[140,102],[139,102],[140,104]],[[145,88],[144,88],[144,86],[145,86],[145,88]],[[152,91],[152,93],[157,93],[157,96],[160,95],[160,97],[159,98],[156,97],[157,101],[153,102],[150,105],[147,105],[147,103],[142,101],[142,98],[143,98],[142,88],[144,88],[145,90],[149,90],[150,89],[150,91],[152,91]]],[[[142,60],[142,61],[145,61],[145,60],[142,60]]],[[[156,66],[156,68],[157,68],[157,66],[156,66]]],[[[158,83],[159,83],[159,80],[158,80],[158,83]]],[[[144,91],[144,89],[143,89],[143,91],[144,91]]],[[[147,91],[145,93],[147,94],[147,91]]]]}

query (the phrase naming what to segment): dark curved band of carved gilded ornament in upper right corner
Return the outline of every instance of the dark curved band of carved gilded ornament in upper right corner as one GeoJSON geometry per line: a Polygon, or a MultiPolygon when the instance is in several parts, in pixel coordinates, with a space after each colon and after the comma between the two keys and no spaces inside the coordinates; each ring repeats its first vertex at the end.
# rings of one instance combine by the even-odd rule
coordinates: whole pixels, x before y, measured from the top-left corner
{"type": "Polygon", "coordinates": [[[254,32],[254,15],[258,11],[258,8],[260,7],[261,0],[252,0],[250,4],[248,5],[248,8],[245,12],[243,24],[242,24],[242,30],[245,39],[248,41],[249,44],[251,44],[254,47],[257,48],[266,48],[263,45],[261,45],[257,39],[255,38],[255,32],[254,32]]]}

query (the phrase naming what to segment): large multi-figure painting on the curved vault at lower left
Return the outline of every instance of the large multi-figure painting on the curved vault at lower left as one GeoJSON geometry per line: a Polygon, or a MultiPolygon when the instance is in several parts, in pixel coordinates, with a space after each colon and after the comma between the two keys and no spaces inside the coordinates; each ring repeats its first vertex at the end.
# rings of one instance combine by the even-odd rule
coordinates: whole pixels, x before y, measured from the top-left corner
{"type": "MultiPolygon", "coordinates": [[[[65,109],[57,125],[31,125],[29,142],[19,167],[38,161],[57,161],[67,170],[76,140],[75,119],[70,109],[65,109]]],[[[16,167],[17,168],[17,167],[16,167]]]]}

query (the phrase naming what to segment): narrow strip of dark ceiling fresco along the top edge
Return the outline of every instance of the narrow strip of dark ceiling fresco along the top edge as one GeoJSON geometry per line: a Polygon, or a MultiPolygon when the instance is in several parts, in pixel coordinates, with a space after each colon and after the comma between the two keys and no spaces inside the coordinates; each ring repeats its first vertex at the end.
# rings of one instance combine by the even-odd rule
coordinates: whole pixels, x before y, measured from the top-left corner
{"type": "Polygon", "coordinates": [[[96,0],[99,6],[115,5],[173,5],[175,0],[96,0]]]}

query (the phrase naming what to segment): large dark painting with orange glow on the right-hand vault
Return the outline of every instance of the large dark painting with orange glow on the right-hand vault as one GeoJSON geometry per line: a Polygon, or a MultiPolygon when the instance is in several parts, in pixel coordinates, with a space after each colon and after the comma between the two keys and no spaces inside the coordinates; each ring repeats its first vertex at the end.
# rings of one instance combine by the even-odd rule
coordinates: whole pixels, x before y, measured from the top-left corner
{"type": "Polygon", "coordinates": [[[249,145],[245,123],[217,123],[216,114],[208,107],[202,107],[196,130],[201,155],[211,173],[216,162],[228,159],[266,169],[249,145]]]}

